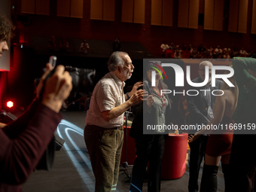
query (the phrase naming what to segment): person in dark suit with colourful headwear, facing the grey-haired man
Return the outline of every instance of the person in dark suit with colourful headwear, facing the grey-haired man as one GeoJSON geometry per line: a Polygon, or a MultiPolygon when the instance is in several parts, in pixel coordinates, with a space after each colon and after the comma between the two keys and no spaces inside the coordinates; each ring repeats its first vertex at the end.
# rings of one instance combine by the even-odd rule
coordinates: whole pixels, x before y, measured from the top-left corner
{"type": "MultiPolygon", "coordinates": [[[[160,95],[160,90],[166,90],[166,84],[155,69],[157,65],[161,65],[160,61],[149,61],[147,67],[146,81],[152,95],[149,95],[143,102],[133,107],[133,120],[130,136],[136,142],[136,160],[133,165],[132,179],[130,183],[131,192],[142,191],[142,185],[145,177],[145,170],[148,167],[148,191],[160,191],[161,184],[161,166],[163,159],[163,151],[165,139],[168,137],[166,130],[151,130],[152,133],[145,135],[143,130],[148,125],[169,125],[171,123],[171,102],[166,94],[160,95]],[[151,87],[151,71],[156,72],[156,86],[151,87]]],[[[157,67],[160,71],[160,69],[157,67]]]]}

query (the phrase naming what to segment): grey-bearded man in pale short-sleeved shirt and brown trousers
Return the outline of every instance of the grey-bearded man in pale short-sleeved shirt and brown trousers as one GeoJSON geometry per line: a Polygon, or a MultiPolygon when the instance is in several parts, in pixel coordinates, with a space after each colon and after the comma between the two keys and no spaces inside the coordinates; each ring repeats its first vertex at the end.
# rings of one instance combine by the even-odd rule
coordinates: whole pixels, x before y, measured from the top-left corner
{"type": "Polygon", "coordinates": [[[143,97],[143,90],[133,89],[133,93],[126,94],[127,98],[123,94],[124,81],[131,78],[133,69],[128,53],[112,53],[108,60],[109,73],[93,90],[84,141],[96,178],[95,191],[112,191],[117,187],[123,146],[123,113],[143,97]],[[125,98],[128,99],[126,102],[125,98]]]}

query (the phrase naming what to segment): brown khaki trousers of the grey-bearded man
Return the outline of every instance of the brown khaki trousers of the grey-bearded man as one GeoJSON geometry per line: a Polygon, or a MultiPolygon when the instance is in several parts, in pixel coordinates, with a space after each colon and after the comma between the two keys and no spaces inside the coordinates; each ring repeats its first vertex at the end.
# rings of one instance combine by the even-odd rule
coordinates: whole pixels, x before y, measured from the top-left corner
{"type": "Polygon", "coordinates": [[[123,130],[87,125],[84,128],[84,141],[96,178],[95,191],[115,191],[123,147],[123,130]]]}

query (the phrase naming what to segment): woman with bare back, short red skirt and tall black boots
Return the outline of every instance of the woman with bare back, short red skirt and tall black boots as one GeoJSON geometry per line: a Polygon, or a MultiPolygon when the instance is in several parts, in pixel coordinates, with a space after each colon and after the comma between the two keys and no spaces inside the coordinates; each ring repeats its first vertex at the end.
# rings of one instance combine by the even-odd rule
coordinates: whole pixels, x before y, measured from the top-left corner
{"type": "MultiPolygon", "coordinates": [[[[225,73],[226,74],[226,73],[225,73]]],[[[213,192],[218,189],[218,165],[221,161],[222,172],[224,173],[225,191],[230,185],[230,174],[228,172],[230,162],[230,152],[233,140],[233,123],[231,119],[238,100],[238,87],[235,76],[228,79],[235,87],[229,87],[225,82],[221,87],[222,91],[217,94],[214,106],[214,118],[208,125],[222,124],[224,130],[201,130],[194,136],[190,136],[190,142],[194,142],[200,135],[210,133],[207,145],[205,164],[203,166],[203,175],[201,180],[201,192],[213,192]],[[222,95],[223,94],[223,95],[222,95]],[[225,129],[228,127],[228,130],[225,129]]]]}

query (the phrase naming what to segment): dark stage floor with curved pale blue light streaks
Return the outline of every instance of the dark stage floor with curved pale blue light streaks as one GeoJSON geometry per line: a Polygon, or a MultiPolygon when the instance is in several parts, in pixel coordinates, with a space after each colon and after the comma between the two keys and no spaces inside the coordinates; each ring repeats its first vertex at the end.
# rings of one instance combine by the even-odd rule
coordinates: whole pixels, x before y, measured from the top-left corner
{"type": "MultiPolygon", "coordinates": [[[[24,192],[74,192],[94,191],[94,175],[90,165],[90,157],[84,143],[84,126],[86,113],[83,111],[62,111],[63,120],[59,123],[57,134],[65,139],[60,151],[56,151],[53,169],[35,171],[26,184],[24,192]]],[[[47,126],[47,124],[46,124],[47,126]]],[[[133,167],[128,167],[131,174],[133,167]]],[[[202,175],[203,163],[200,170],[202,175]]],[[[199,184],[200,184],[199,178],[199,184]]],[[[188,170],[181,178],[175,180],[162,180],[161,191],[183,192],[187,191],[188,170]]],[[[143,184],[143,191],[147,191],[147,180],[143,184]]],[[[129,191],[130,178],[120,167],[119,180],[116,191],[129,191]]],[[[218,170],[218,191],[224,191],[224,178],[221,166],[218,170]]]]}

